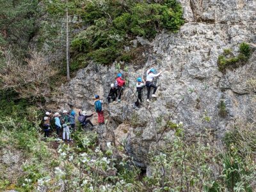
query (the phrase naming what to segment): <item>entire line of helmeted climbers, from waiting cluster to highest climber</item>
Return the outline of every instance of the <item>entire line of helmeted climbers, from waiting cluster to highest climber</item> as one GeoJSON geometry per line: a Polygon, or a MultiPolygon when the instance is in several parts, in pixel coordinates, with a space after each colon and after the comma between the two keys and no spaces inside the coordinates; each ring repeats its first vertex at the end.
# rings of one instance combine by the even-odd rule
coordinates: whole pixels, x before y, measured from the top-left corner
{"type": "MultiPolygon", "coordinates": [[[[153,80],[155,77],[159,77],[162,72],[156,74],[156,70],[154,69],[149,69],[147,70],[147,78],[146,81],[138,77],[137,82],[136,82],[136,102],[134,103],[136,109],[140,106],[140,103],[142,103],[142,91],[143,87],[147,87],[147,102],[150,102],[150,89],[151,87],[154,88],[152,97],[156,98],[156,91],[157,91],[157,86],[153,84],[153,80]]],[[[118,99],[118,102],[121,101],[121,96],[123,94],[125,87],[125,80],[122,78],[122,73],[118,73],[116,77],[115,84],[111,84],[111,89],[108,94],[108,103],[111,103],[112,101],[115,101],[116,98],[118,99]]],[[[102,107],[102,100],[100,100],[99,95],[94,96],[94,106],[95,106],[95,112],[98,114],[98,123],[99,124],[104,124],[104,114],[103,114],[103,107],[102,107]]],[[[88,119],[92,117],[94,114],[93,112],[90,115],[86,114],[86,111],[81,111],[79,110],[79,116],[77,120],[81,123],[81,126],[84,127],[87,124],[90,124],[92,128],[94,128],[94,125],[92,122],[88,119]]],[[[70,137],[70,132],[73,132],[76,130],[76,112],[72,110],[70,114],[68,114],[67,110],[63,110],[62,115],[60,113],[56,112],[55,114],[51,114],[50,112],[45,113],[44,117],[44,123],[43,123],[43,128],[44,128],[44,136],[49,137],[50,133],[50,127],[51,127],[51,121],[54,119],[54,126],[56,128],[56,133],[58,137],[62,137],[63,140],[66,140],[69,142],[71,140],[70,137]],[[61,129],[62,131],[62,136],[61,134],[61,129]]]]}

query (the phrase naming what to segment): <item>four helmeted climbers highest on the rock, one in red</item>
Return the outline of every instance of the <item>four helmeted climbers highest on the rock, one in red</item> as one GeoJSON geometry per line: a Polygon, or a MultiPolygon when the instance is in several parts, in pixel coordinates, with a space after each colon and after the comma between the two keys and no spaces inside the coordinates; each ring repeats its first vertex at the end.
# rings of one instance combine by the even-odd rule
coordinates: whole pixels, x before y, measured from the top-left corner
{"type": "MultiPolygon", "coordinates": [[[[152,98],[157,97],[156,96],[157,86],[153,83],[153,80],[155,77],[158,77],[159,75],[161,75],[161,73],[162,72],[159,72],[156,74],[156,70],[154,70],[152,68],[152,69],[147,70],[146,82],[141,77],[137,78],[137,82],[136,82],[136,98],[137,98],[137,100],[134,103],[136,106],[136,109],[138,109],[138,107],[140,106],[140,103],[142,103],[143,87],[147,87],[147,102],[150,102],[149,98],[150,98],[151,87],[154,88],[152,98]]],[[[123,94],[124,86],[125,86],[125,80],[122,78],[122,73],[118,73],[115,84],[110,85],[111,88],[110,88],[110,91],[108,94],[108,103],[111,103],[111,100],[115,101],[116,98],[118,98],[118,102],[121,101],[121,96],[123,94]]]]}

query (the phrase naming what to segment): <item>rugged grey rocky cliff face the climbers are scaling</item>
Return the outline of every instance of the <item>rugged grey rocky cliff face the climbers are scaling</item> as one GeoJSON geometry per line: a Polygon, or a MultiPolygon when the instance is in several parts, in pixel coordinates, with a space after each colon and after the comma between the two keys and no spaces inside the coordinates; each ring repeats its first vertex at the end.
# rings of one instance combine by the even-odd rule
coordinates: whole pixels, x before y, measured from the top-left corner
{"type": "MultiPolygon", "coordinates": [[[[134,40],[134,44],[150,47],[143,53],[147,62],[141,66],[129,64],[127,72],[121,70],[130,80],[129,87],[125,89],[121,103],[104,105],[109,133],[105,131],[102,138],[116,144],[125,140],[126,151],[141,167],[147,166],[145,156],[159,139],[170,114],[173,114],[170,120],[182,121],[186,131],[198,133],[205,128],[211,129],[218,139],[237,119],[250,121],[254,115],[255,90],[248,80],[255,78],[255,52],[248,63],[227,70],[225,74],[218,70],[217,61],[224,48],[232,48],[236,55],[243,41],[255,43],[256,2],[180,2],[186,24],[179,33],[163,31],[152,42],[141,38],[134,40]],[[152,67],[163,71],[156,82],[158,98],[151,99],[149,104],[145,102],[140,110],[134,110],[136,78],[145,76],[145,71],[152,67]],[[221,115],[223,111],[225,113],[221,115]],[[106,136],[108,134],[111,137],[106,136]]],[[[99,94],[106,101],[117,72],[115,63],[111,66],[92,63],[78,71],[69,84],[63,85],[63,94],[56,101],[61,108],[73,106],[92,111],[93,94],[99,94]]],[[[144,101],[146,92],[145,89],[144,101]]],[[[161,138],[171,139],[172,134],[169,129],[161,138]]]]}

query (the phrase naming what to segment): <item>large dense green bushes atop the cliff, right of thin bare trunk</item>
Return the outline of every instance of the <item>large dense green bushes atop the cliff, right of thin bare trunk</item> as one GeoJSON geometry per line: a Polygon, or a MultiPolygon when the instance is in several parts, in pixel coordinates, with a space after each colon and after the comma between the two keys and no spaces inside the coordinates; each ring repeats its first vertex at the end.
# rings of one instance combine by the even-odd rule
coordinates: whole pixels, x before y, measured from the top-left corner
{"type": "Polygon", "coordinates": [[[175,0],[93,2],[86,4],[81,17],[89,27],[72,40],[74,55],[83,52],[86,59],[101,64],[109,64],[122,54],[120,59],[129,62],[132,58],[124,53],[124,45],[135,36],[154,38],[160,29],[176,32],[184,24],[182,8],[175,0]]]}

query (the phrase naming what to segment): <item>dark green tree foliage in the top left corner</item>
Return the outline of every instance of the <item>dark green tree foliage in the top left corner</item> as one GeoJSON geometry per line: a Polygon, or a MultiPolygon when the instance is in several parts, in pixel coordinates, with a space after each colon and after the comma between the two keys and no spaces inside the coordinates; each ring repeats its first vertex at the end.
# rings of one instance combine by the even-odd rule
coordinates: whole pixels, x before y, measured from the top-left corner
{"type": "Polygon", "coordinates": [[[29,41],[36,31],[37,8],[37,0],[0,0],[1,47],[11,47],[15,55],[26,56],[29,41]]]}

